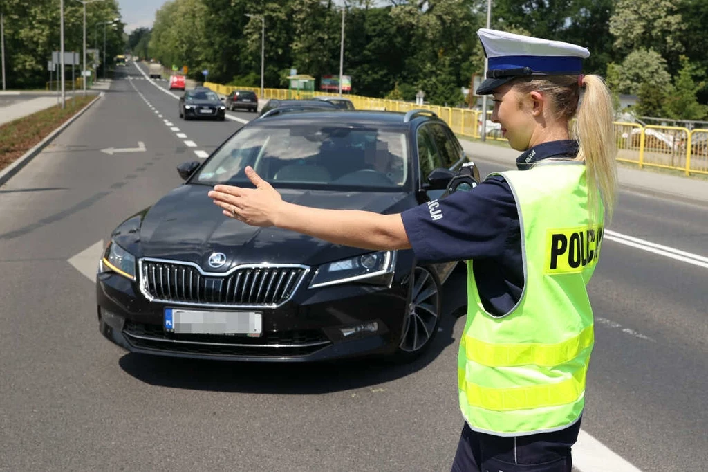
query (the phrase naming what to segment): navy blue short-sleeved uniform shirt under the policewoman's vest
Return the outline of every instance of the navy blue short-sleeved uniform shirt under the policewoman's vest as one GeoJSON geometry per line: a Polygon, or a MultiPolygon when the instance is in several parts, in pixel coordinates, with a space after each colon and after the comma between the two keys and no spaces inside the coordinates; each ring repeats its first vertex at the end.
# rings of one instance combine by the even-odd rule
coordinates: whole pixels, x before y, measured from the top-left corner
{"type": "MultiPolygon", "coordinates": [[[[516,165],[525,170],[542,159],[573,159],[577,154],[576,141],[544,142],[521,154],[516,165]]],[[[524,286],[521,225],[514,195],[502,176],[406,210],[401,218],[419,262],[474,259],[484,308],[501,316],[516,305],[524,286]]]]}

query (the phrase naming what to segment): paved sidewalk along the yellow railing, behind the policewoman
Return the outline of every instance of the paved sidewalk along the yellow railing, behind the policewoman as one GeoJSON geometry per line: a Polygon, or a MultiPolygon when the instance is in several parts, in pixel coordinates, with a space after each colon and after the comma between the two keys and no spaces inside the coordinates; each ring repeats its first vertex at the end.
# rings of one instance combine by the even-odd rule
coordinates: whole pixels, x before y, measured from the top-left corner
{"type": "MultiPolygon", "coordinates": [[[[474,161],[492,161],[516,168],[516,158],[520,152],[498,145],[460,139],[467,157],[474,161]]],[[[481,166],[484,175],[484,165],[481,166]]],[[[640,169],[617,167],[617,184],[621,189],[638,191],[651,196],[670,196],[694,203],[708,202],[708,181],[679,177],[640,169]]]]}

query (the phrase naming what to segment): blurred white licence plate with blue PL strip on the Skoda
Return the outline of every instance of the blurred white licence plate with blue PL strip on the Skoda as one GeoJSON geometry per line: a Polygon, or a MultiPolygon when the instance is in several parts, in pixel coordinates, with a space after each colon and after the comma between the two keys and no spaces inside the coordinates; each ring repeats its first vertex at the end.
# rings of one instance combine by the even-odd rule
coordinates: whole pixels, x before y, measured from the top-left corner
{"type": "Polygon", "coordinates": [[[165,308],[165,331],[191,335],[260,337],[263,314],[257,311],[200,311],[165,308]]]}

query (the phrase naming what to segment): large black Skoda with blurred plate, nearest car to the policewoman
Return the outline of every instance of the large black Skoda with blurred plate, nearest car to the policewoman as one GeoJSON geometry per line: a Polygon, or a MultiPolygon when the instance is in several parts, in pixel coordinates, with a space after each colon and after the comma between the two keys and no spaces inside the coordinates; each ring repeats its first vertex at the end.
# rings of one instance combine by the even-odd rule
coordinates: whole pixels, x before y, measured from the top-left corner
{"type": "Polygon", "coordinates": [[[111,233],[96,276],[100,330],[131,352],[166,356],[414,359],[438,332],[456,263],[251,227],[207,192],[250,186],[249,165],[286,201],[395,213],[438,198],[462,162],[455,135],[429,111],[253,120],[206,161],[178,167],[185,184],[111,233]]]}

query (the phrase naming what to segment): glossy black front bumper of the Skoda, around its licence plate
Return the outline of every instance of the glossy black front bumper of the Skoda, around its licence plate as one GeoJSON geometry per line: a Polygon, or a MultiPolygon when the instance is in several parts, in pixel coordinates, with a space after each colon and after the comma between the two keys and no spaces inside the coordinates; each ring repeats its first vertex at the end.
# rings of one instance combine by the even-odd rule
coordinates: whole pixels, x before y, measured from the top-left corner
{"type": "Polygon", "coordinates": [[[396,350],[407,308],[406,277],[394,279],[391,288],[349,283],[308,289],[307,283],[306,279],[295,296],[278,308],[253,308],[263,313],[261,337],[185,335],[163,329],[164,308],[173,305],[147,300],[137,283],[125,277],[98,274],[99,330],[130,352],[200,359],[301,362],[396,350]],[[343,328],[372,322],[377,327],[374,332],[343,335],[343,328]]]}

